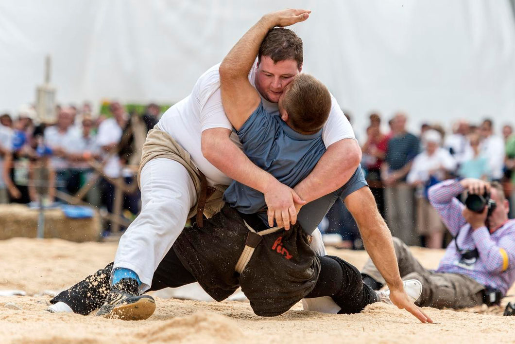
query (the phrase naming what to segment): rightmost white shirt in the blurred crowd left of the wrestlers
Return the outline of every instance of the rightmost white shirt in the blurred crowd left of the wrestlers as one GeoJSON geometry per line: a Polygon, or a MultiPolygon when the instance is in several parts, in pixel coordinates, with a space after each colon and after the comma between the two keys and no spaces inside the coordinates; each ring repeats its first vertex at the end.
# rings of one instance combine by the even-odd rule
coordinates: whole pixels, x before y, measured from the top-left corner
{"type": "MultiPolygon", "coordinates": [[[[98,126],[98,134],[96,136],[97,144],[101,146],[107,146],[113,143],[118,143],[122,139],[122,128],[118,125],[118,122],[114,118],[108,118],[107,120],[100,123],[98,126]]],[[[117,178],[120,176],[120,158],[118,154],[113,154],[109,158],[108,153],[104,153],[104,159],[106,165],[104,165],[104,173],[111,178],[117,178]]]]}

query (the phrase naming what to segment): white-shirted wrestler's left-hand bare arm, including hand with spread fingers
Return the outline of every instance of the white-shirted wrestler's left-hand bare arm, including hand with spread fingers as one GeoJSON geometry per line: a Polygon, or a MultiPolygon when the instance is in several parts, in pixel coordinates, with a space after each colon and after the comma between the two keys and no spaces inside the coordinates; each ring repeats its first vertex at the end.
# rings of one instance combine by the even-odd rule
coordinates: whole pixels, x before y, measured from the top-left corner
{"type": "Polygon", "coordinates": [[[268,207],[268,224],[275,218],[279,226],[289,229],[297,222],[294,203],[304,204],[293,189],[280,183],[270,173],[255,166],[231,141],[231,130],[212,128],[202,132],[202,154],[217,169],[239,183],[250,186],[265,195],[268,207]],[[293,211],[292,211],[293,210],[293,211]]]}

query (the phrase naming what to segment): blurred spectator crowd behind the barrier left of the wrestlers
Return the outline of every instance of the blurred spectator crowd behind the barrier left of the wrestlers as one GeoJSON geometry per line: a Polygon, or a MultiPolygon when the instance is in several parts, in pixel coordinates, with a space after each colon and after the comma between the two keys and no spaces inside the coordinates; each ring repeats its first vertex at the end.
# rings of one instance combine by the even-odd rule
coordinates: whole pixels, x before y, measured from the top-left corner
{"type": "MultiPolygon", "coordinates": [[[[80,108],[57,106],[55,123],[39,123],[31,106],[22,106],[14,117],[2,114],[0,203],[52,206],[94,184],[85,201],[113,212],[115,184],[135,183],[138,145],[141,148],[146,132],[159,120],[160,107],[149,104],[145,113],[129,114],[112,102],[109,112],[110,116],[94,116],[89,103],[80,108]],[[95,177],[95,166],[100,177],[95,177]]],[[[134,187],[122,195],[122,209],[130,219],[139,212],[140,194],[134,187]]],[[[109,234],[109,221],[104,229],[109,234]]]]}

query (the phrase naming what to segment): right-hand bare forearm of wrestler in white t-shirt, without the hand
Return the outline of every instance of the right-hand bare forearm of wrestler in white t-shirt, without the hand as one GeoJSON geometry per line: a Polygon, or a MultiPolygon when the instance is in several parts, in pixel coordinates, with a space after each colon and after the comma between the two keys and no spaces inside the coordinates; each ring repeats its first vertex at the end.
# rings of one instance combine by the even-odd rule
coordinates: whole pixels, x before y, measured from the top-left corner
{"type": "Polygon", "coordinates": [[[331,144],[320,157],[313,171],[294,190],[311,202],[344,186],[361,161],[361,149],[354,139],[331,144]]]}

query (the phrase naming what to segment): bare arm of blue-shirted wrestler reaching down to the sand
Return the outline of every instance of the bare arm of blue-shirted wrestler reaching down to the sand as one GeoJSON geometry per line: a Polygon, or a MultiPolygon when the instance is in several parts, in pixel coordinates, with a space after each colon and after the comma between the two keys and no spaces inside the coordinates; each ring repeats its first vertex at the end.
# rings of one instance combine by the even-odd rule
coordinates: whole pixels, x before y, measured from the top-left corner
{"type": "Polygon", "coordinates": [[[345,198],[345,205],[356,220],[367,253],[390,288],[390,300],[393,304],[400,309],[406,309],[421,322],[433,322],[409,300],[404,291],[391,234],[377,210],[370,189],[365,187],[354,191],[345,198]]]}

